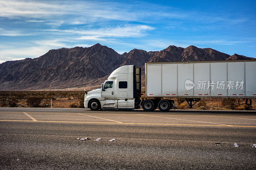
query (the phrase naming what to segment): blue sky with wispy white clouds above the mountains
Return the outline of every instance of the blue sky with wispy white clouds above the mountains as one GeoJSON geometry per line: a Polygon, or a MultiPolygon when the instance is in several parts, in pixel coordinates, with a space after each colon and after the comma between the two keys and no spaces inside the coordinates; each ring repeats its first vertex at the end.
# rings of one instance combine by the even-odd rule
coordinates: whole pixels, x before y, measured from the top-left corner
{"type": "Polygon", "coordinates": [[[96,43],[256,57],[256,1],[0,1],[0,63],[96,43]]]}

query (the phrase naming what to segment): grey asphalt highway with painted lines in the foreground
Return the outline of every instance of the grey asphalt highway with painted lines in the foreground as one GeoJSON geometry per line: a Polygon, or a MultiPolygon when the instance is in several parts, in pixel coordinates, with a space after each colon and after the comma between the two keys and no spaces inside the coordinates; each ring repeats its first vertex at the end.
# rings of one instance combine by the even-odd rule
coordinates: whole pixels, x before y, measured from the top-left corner
{"type": "Polygon", "coordinates": [[[0,108],[0,169],[255,169],[253,144],[255,111],[0,108]]]}

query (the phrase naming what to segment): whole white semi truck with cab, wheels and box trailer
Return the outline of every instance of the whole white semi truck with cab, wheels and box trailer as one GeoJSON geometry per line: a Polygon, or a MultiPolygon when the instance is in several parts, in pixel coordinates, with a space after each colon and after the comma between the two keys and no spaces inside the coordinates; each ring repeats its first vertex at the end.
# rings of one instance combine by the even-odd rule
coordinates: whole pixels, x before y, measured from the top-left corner
{"type": "Polygon", "coordinates": [[[256,60],[145,63],[145,98],[141,98],[141,69],[125,65],[114,70],[101,89],[86,92],[91,110],[168,111],[172,98],[192,106],[201,98],[256,98],[256,60]]]}

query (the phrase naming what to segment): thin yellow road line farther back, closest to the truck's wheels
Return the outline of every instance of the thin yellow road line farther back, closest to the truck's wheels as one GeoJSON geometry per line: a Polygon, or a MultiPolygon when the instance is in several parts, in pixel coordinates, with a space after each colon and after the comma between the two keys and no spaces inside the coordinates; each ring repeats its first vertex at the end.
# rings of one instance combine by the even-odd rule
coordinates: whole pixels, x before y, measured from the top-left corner
{"type": "MultiPolygon", "coordinates": [[[[23,113],[23,112],[0,112],[0,113],[23,113]]],[[[89,114],[89,115],[138,115],[138,114],[125,114],[125,113],[61,113],[61,112],[28,112],[28,113],[89,114]]],[[[241,114],[242,113],[243,112],[241,112],[241,114]]],[[[143,115],[165,115],[165,114],[143,114],[143,115]]],[[[165,116],[219,116],[219,115],[165,115],[165,116]]],[[[241,116],[241,115],[221,115],[221,116],[256,117],[256,116],[241,116]]]]}

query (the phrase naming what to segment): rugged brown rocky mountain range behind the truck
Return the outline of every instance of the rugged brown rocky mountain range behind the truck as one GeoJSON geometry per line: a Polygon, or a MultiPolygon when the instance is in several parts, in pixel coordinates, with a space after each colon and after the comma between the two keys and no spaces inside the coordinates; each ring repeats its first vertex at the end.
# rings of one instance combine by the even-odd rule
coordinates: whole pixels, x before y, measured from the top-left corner
{"type": "Polygon", "coordinates": [[[244,55],[228,55],[212,48],[169,46],[161,51],[133,49],[118,54],[99,43],[92,47],[52,49],[38,58],[7,61],[0,64],[0,90],[73,90],[95,88],[122,65],[142,68],[142,85],[146,62],[250,60],[244,55]]]}

